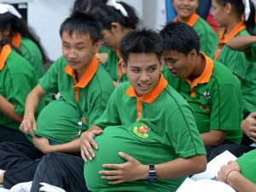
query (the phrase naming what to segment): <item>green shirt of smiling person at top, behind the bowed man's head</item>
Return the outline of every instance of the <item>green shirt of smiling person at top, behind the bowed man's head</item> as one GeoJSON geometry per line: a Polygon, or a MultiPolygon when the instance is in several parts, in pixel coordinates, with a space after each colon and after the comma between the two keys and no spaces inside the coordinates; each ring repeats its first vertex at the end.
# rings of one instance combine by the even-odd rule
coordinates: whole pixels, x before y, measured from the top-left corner
{"type": "Polygon", "coordinates": [[[199,18],[193,28],[199,37],[201,52],[207,55],[212,54],[212,46],[218,41],[218,36],[212,30],[212,26],[206,20],[199,18]]]}

